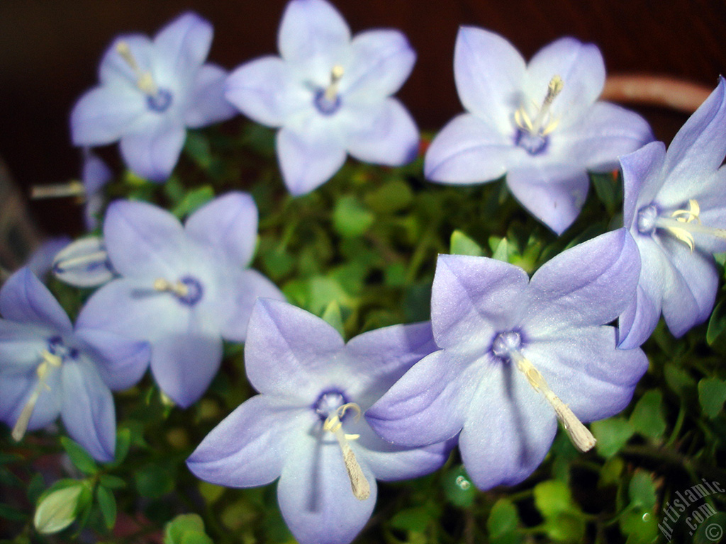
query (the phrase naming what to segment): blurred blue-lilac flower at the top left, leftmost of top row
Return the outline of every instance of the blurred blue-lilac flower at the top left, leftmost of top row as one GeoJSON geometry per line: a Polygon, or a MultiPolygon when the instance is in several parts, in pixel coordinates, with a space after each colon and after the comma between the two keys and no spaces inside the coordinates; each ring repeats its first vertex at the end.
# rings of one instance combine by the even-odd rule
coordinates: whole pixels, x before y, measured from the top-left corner
{"type": "Polygon", "coordinates": [[[153,181],[168,178],[187,127],[234,115],[223,94],[227,73],[204,64],[212,34],[210,23],[190,12],[153,40],[140,34],[117,38],[101,61],[100,85],[73,107],[73,144],[121,140],[121,154],[134,173],[153,181]]]}

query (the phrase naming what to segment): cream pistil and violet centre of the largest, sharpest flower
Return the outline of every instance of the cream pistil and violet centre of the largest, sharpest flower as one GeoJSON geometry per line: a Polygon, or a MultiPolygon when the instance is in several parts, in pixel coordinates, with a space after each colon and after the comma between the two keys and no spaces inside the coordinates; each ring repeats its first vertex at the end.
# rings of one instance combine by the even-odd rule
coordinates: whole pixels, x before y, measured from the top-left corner
{"type": "Polygon", "coordinates": [[[557,418],[562,421],[562,426],[577,449],[582,452],[592,449],[595,445],[595,437],[582,424],[582,421],[577,419],[577,416],[570,410],[568,405],[563,403],[560,397],[552,392],[550,386],[544,380],[544,376],[529,359],[522,355],[521,347],[521,335],[516,331],[506,331],[494,337],[492,353],[502,360],[516,363],[518,371],[524,374],[531,387],[535,391],[542,392],[544,399],[552,406],[557,418]]]}

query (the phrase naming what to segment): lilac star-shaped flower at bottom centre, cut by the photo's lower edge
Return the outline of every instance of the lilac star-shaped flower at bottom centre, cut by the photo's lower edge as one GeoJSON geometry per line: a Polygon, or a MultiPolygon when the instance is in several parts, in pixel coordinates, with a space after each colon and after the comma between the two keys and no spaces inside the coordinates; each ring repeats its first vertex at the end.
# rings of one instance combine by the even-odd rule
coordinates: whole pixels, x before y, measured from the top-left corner
{"type": "Polygon", "coordinates": [[[396,325],[345,344],[322,319],[260,300],[245,368],[260,395],[232,412],[187,460],[208,482],[265,485],[280,478],[282,516],[301,544],[347,544],[375,505],[376,479],[438,469],[451,443],[401,448],[360,418],[415,361],[436,349],[431,325],[396,325]]]}

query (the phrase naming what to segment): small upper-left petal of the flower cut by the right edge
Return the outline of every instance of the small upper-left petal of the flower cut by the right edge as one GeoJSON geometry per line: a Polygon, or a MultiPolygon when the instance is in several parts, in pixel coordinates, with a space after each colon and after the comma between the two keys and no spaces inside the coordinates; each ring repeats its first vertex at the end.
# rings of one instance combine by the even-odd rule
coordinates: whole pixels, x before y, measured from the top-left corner
{"type": "Polygon", "coordinates": [[[637,210],[650,205],[661,189],[665,157],[666,146],[662,141],[653,141],[636,152],[620,157],[624,192],[623,224],[627,228],[637,228],[637,210]]]}

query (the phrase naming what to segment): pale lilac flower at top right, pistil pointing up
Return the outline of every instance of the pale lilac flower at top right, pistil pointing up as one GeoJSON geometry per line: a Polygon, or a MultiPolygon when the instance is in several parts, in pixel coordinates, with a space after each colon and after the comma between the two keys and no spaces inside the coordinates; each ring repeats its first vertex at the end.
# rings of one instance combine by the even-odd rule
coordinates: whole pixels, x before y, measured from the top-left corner
{"type": "Polygon", "coordinates": [[[605,83],[597,46],[561,38],[525,63],[495,33],[462,27],[454,76],[467,113],[446,125],[425,157],[425,176],[476,184],[507,175],[507,186],[539,221],[561,234],[587,197],[587,170],[653,139],[648,123],[596,102],[605,83]]]}

